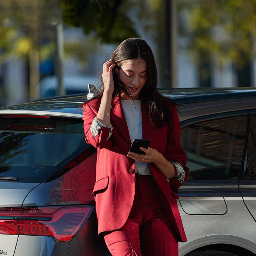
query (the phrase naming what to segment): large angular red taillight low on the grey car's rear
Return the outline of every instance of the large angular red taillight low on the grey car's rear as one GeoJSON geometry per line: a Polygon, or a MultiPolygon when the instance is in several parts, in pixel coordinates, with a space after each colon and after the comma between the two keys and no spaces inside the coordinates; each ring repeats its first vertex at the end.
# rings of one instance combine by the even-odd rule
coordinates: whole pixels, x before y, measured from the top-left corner
{"type": "Polygon", "coordinates": [[[0,208],[0,234],[51,236],[56,242],[69,242],[92,210],[90,205],[0,208]]]}

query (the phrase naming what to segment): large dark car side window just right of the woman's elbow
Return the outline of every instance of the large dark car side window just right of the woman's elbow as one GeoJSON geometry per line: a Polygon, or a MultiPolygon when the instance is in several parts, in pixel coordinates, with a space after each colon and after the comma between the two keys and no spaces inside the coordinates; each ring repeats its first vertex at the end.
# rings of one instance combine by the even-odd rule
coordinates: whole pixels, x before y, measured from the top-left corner
{"type": "Polygon", "coordinates": [[[241,167],[247,115],[189,124],[181,132],[188,180],[235,180],[241,167]]]}

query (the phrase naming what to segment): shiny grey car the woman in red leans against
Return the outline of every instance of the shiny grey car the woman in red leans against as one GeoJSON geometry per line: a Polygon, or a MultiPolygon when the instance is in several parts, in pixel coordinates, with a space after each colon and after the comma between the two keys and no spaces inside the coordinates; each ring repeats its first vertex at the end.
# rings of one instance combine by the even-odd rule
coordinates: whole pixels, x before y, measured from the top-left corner
{"type": "MultiPolygon", "coordinates": [[[[179,255],[256,255],[256,90],[160,92],[181,105],[189,167],[177,198],[188,238],[179,255]]],[[[85,96],[0,108],[0,255],[110,255],[97,235],[85,96]]]]}

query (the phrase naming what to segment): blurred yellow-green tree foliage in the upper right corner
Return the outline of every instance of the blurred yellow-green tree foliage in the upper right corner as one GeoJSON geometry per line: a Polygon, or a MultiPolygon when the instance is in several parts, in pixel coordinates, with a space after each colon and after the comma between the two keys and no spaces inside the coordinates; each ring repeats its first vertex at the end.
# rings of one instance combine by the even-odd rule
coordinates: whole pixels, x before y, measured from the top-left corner
{"type": "Polygon", "coordinates": [[[197,64],[214,56],[243,68],[256,57],[256,0],[179,0],[178,13],[184,48],[197,64]]]}

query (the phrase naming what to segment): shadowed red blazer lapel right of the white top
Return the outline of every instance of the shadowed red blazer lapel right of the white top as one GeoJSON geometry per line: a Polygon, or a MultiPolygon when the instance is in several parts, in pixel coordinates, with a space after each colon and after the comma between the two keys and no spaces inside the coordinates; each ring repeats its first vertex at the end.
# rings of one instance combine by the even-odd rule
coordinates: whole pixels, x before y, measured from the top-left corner
{"type": "Polygon", "coordinates": [[[155,115],[151,116],[151,121],[149,119],[149,104],[148,101],[144,98],[141,100],[141,115],[142,115],[142,139],[151,140],[156,123],[155,115]]]}

